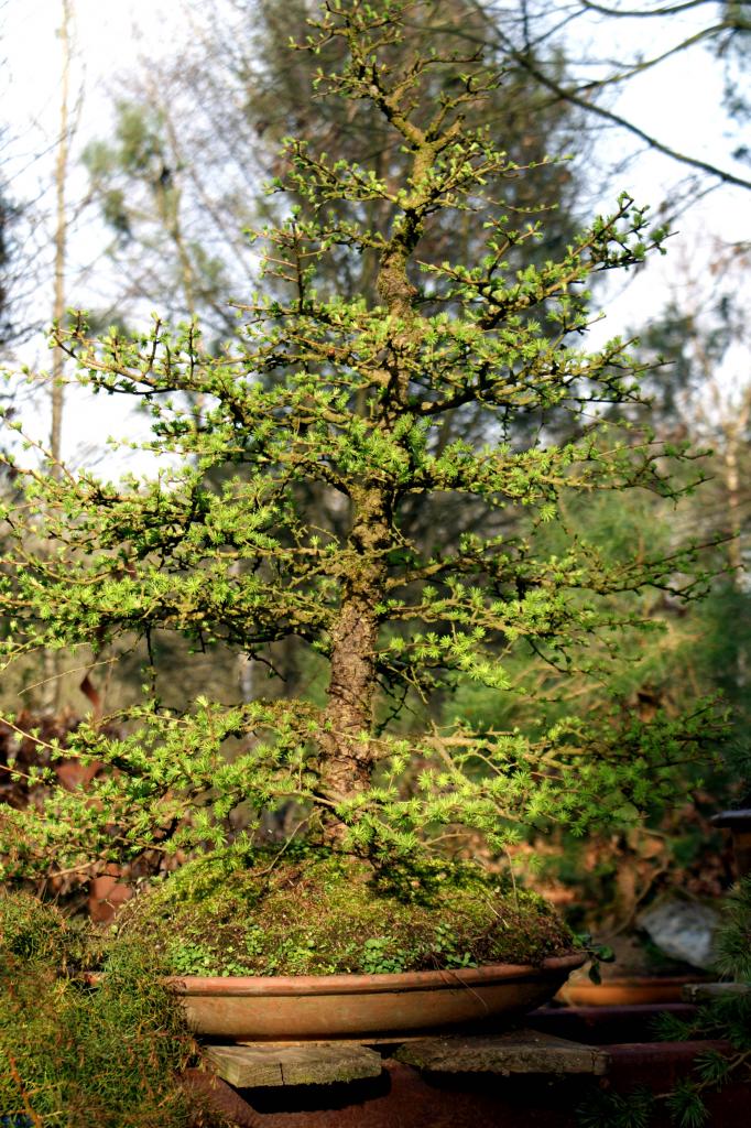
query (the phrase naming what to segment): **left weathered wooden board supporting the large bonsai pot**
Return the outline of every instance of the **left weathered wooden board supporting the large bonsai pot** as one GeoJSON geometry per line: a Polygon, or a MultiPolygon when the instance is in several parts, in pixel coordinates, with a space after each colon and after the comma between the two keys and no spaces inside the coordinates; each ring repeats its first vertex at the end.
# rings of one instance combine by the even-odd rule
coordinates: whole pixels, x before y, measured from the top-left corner
{"type": "Polygon", "coordinates": [[[330,1085],[381,1073],[380,1054],[347,1043],[207,1046],[204,1054],[214,1072],[236,1089],[330,1085]]]}

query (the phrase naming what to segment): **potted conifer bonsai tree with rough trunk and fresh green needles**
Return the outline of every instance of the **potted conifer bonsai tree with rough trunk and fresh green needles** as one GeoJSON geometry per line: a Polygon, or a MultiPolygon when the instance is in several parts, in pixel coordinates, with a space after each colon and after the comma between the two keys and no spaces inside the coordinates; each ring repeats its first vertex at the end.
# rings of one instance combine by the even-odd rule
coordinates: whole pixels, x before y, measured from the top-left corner
{"type": "MultiPolygon", "coordinates": [[[[510,268],[510,253],[544,241],[545,229],[487,186],[514,195],[536,167],[462,116],[503,88],[503,73],[460,41],[449,56],[405,63],[395,47],[416,7],[327,0],[298,45],[344,45],[318,95],[369,100],[409,173],[394,183],[286,141],[272,191],[304,205],[263,232],[262,290],[238,306],[240,343],[210,354],[195,324],[158,318],[134,340],[89,340],[82,315],[55,331],[83,384],[141,398],[162,468],[108,482],[19,459],[26,501],[2,513],[3,658],[52,646],[87,662],[118,640],[145,640],[147,685],[109,717],[120,735],[91,721],[64,750],[50,742],[51,763],[103,769],[73,791],[38,769],[45,802],[0,821],[7,880],[91,873],[154,849],[237,851],[264,811],[289,804],[291,834],[311,849],[381,871],[444,854],[462,835],[502,857],[551,821],[576,832],[637,825],[680,792],[710,735],[704,705],[647,723],[604,702],[590,719],[560,715],[529,732],[474,731],[451,715],[459,685],[498,700],[523,694],[506,672],[520,654],[547,663],[551,693],[574,672],[602,679],[622,633],[650,626],[631,594],[651,585],[695,598],[705,580],[696,545],[613,558],[568,528],[559,504],[603,491],[618,504],[634,490],[668,504],[701,475],[672,484],[670,461],[693,456],[613,415],[639,397],[629,343],[582,347],[592,280],[661,250],[666,232],[624,194],[556,259],[510,268]],[[453,79],[426,105],[421,91],[441,69],[453,79]],[[388,205],[387,226],[357,219],[373,200],[388,205]],[[485,232],[477,262],[421,257],[447,213],[485,232]],[[377,305],[317,284],[334,252],[377,255],[377,305]],[[449,421],[456,433],[468,412],[472,434],[485,418],[481,443],[447,443],[449,421]],[[319,515],[323,495],[336,528],[319,515]],[[418,544],[407,514],[445,495],[471,509],[474,531],[436,527],[418,544]],[[312,688],[295,700],[166,702],[165,633],[267,663],[294,636],[311,655],[312,688]]],[[[168,679],[174,697],[180,671],[168,679]]]]}

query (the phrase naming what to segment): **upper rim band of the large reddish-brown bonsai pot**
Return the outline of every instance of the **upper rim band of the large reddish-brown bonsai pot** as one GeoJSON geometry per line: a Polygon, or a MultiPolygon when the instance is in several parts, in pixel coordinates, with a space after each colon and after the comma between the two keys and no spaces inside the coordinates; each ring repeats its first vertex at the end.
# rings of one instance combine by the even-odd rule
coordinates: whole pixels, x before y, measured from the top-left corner
{"type": "Polygon", "coordinates": [[[584,952],[551,955],[539,964],[485,963],[479,968],[444,968],[438,971],[399,971],[376,975],[332,976],[168,976],[176,994],[187,996],[237,995],[360,995],[435,988],[471,988],[493,981],[525,980],[568,973],[582,967],[584,952]]]}

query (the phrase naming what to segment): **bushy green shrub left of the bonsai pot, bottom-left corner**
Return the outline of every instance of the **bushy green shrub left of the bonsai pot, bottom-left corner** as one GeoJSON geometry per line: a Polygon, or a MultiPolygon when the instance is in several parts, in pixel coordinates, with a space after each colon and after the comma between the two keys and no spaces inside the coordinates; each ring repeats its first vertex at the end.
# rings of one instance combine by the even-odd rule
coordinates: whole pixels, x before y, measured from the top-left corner
{"type": "Polygon", "coordinates": [[[179,1083],[196,1047],[153,958],[121,944],[91,987],[65,973],[83,954],[54,908],[0,898],[0,1117],[34,1128],[207,1125],[179,1083]]]}

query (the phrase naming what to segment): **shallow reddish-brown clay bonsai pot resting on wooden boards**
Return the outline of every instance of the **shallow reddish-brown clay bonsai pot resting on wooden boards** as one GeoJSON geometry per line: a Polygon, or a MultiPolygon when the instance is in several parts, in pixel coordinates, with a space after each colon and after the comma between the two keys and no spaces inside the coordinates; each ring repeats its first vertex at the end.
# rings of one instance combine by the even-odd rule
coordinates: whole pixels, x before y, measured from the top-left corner
{"type": "Polygon", "coordinates": [[[382,1038],[523,1014],[545,1003],[582,952],[539,967],[493,963],[445,971],[336,976],[173,977],[196,1033],[236,1041],[382,1038]]]}

